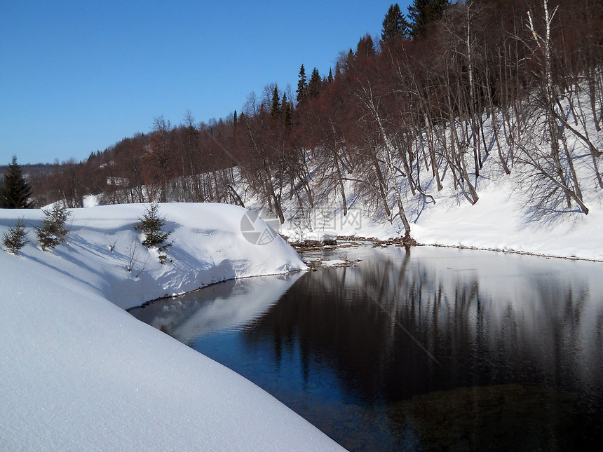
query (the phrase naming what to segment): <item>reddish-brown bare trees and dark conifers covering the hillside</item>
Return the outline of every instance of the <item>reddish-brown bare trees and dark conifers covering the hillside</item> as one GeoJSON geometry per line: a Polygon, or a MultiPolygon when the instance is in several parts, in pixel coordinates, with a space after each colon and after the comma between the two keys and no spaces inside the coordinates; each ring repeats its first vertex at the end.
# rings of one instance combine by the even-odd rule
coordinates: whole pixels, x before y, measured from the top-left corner
{"type": "MultiPolygon", "coordinates": [[[[579,210],[585,181],[603,181],[603,1],[415,0],[393,5],[379,39],[364,36],[327,76],[295,93],[276,85],[240,114],[124,139],[36,184],[44,202],[242,203],[236,182],[285,221],[351,189],[388,219],[405,203],[432,202],[446,175],[476,203],[485,161],[512,174],[536,217],[579,210]],[[578,144],[578,146],[574,144],[578,144]],[[585,163],[586,175],[576,168],[585,163]],[[582,175],[581,175],[582,174],[582,175]]],[[[240,189],[239,189],[240,190],[240,189]]]]}

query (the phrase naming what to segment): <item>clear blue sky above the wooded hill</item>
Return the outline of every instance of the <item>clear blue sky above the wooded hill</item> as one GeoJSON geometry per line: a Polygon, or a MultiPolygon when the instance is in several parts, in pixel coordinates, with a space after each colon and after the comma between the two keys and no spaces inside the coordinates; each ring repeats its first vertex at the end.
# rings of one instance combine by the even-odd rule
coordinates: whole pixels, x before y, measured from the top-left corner
{"type": "Polygon", "coordinates": [[[1,0],[0,164],[83,160],[182,123],[179,104],[208,122],[269,83],[294,91],[301,64],[327,74],[379,36],[392,3],[1,0]]]}

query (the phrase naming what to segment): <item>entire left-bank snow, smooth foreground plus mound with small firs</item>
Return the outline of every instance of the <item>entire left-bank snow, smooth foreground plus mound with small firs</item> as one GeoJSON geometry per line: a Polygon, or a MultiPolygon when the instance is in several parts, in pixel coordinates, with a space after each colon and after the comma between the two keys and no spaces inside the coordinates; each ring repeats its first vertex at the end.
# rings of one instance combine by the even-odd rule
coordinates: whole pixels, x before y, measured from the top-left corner
{"type": "Polygon", "coordinates": [[[0,210],[0,233],[25,217],[30,240],[19,256],[0,252],[4,450],[340,449],[245,378],[121,309],[305,268],[283,240],[246,241],[239,207],[160,205],[174,240],[168,263],[140,245],[130,273],[144,206],[72,212],[67,243],[42,252],[32,231],[41,212],[0,210]]]}

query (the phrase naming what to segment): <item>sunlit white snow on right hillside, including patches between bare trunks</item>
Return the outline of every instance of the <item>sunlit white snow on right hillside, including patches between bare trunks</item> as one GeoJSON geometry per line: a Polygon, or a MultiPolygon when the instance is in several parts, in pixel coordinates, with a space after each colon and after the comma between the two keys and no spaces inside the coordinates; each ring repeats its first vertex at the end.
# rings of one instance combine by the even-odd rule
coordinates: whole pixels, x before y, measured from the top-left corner
{"type": "MultiPolygon", "coordinates": [[[[583,105],[590,102],[586,93],[588,90],[583,90],[580,101],[583,105]]],[[[567,100],[562,100],[560,105],[567,109],[567,116],[571,116],[567,100]]],[[[482,121],[487,135],[491,135],[492,118],[485,115],[482,121]]],[[[499,114],[496,124],[502,122],[503,118],[499,114]]],[[[574,127],[588,135],[601,149],[603,130],[597,130],[593,121],[588,121],[588,130],[578,124],[574,124],[574,127]]],[[[538,135],[538,130],[532,132],[538,135]]],[[[511,174],[505,174],[497,160],[499,157],[494,149],[494,138],[487,136],[486,141],[490,142],[492,149],[487,158],[482,153],[483,167],[479,177],[471,176],[479,196],[475,205],[470,204],[455,189],[452,172],[444,159],[440,159],[441,191],[436,187],[431,169],[419,165],[421,188],[433,196],[435,203],[431,200],[428,202],[427,198],[419,194],[412,196],[407,179],[398,179],[398,189],[402,193],[412,238],[421,245],[496,249],[603,261],[603,187],[597,184],[588,146],[569,132],[565,133],[564,139],[571,151],[588,214],[576,211],[577,207],[574,205],[571,207],[573,212],[557,212],[538,220],[531,217],[529,180],[522,180],[522,172],[526,168],[516,163],[511,165],[511,174]]],[[[438,153],[441,151],[438,149],[438,153]]],[[[508,146],[505,144],[503,153],[508,153],[508,146]]],[[[470,157],[466,156],[466,159],[470,157]]],[[[600,161],[601,158],[599,166],[600,161]]],[[[469,161],[466,164],[471,167],[469,161]]],[[[320,181],[320,177],[317,180],[320,181]]],[[[312,183],[320,184],[311,181],[312,183]]],[[[285,222],[279,232],[287,236],[290,242],[320,241],[325,233],[379,240],[404,235],[404,228],[398,217],[388,221],[383,210],[379,211],[381,207],[367,202],[353,183],[346,181],[344,187],[348,207],[346,215],[341,206],[341,194],[337,190],[330,190],[328,196],[318,200],[312,209],[303,210],[302,214],[299,213],[302,210],[295,205],[295,200],[285,200],[285,218],[289,221],[285,222]]],[[[389,206],[396,213],[393,189],[388,196],[389,206]]],[[[563,206],[560,209],[567,210],[563,206]]]]}

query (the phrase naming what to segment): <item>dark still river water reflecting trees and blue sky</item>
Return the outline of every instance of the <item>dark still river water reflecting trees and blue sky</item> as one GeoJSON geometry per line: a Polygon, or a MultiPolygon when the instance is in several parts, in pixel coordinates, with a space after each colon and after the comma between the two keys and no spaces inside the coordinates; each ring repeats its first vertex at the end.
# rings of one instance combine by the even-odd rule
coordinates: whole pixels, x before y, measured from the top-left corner
{"type": "Polygon", "coordinates": [[[132,313],[350,450],[600,445],[602,263],[429,247],[320,256],[363,260],[132,313]]]}

